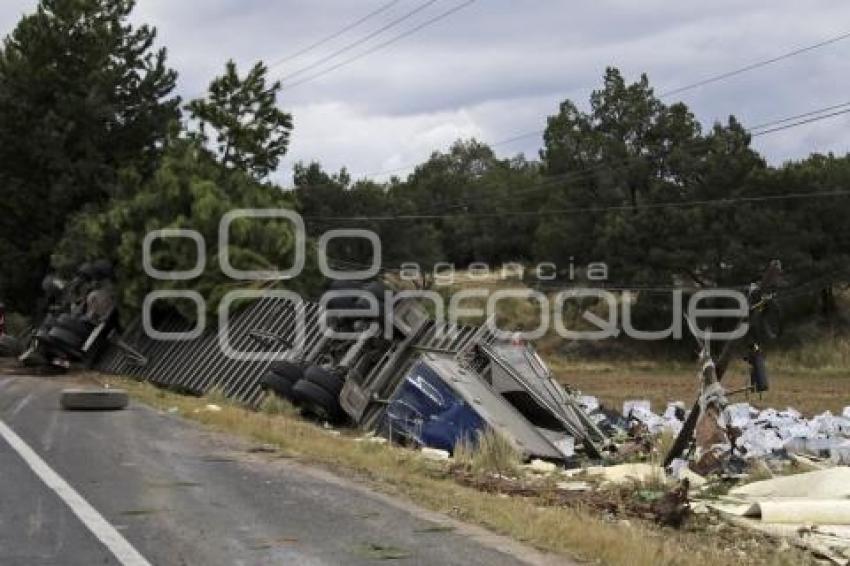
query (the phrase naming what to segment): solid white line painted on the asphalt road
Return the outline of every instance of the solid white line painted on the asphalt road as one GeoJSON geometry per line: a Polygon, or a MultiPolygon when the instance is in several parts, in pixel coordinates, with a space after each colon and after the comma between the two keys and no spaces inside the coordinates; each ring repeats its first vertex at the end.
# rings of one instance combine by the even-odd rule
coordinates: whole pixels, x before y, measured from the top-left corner
{"type": "Polygon", "coordinates": [[[121,536],[115,527],[110,525],[103,516],[97,512],[97,509],[92,507],[88,501],[68,485],[68,482],[63,480],[59,474],[47,465],[47,462],[42,460],[32,448],[30,448],[23,439],[18,436],[15,431],[9,428],[6,423],[0,421],[0,436],[11,446],[27,463],[32,471],[43,481],[47,487],[56,492],[56,494],[65,502],[71,511],[82,521],[82,523],[92,532],[94,536],[102,542],[109,551],[115,555],[118,562],[124,566],[151,566],[150,562],[139,554],[133,548],[127,539],[121,536]]]}

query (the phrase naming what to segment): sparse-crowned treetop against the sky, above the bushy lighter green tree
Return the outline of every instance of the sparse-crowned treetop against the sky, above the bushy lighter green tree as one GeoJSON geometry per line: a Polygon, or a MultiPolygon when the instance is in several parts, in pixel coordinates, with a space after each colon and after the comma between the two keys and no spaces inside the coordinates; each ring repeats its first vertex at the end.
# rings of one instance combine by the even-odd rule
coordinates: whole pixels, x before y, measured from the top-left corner
{"type": "Polygon", "coordinates": [[[266,85],[268,68],[258,62],[244,79],[236,63],[228,61],[206,99],[187,106],[199,121],[199,137],[209,143],[207,129],[215,131],[219,161],[229,169],[241,169],[263,179],[277,168],[286,154],[292,116],[276,106],[280,81],[266,85]]]}

